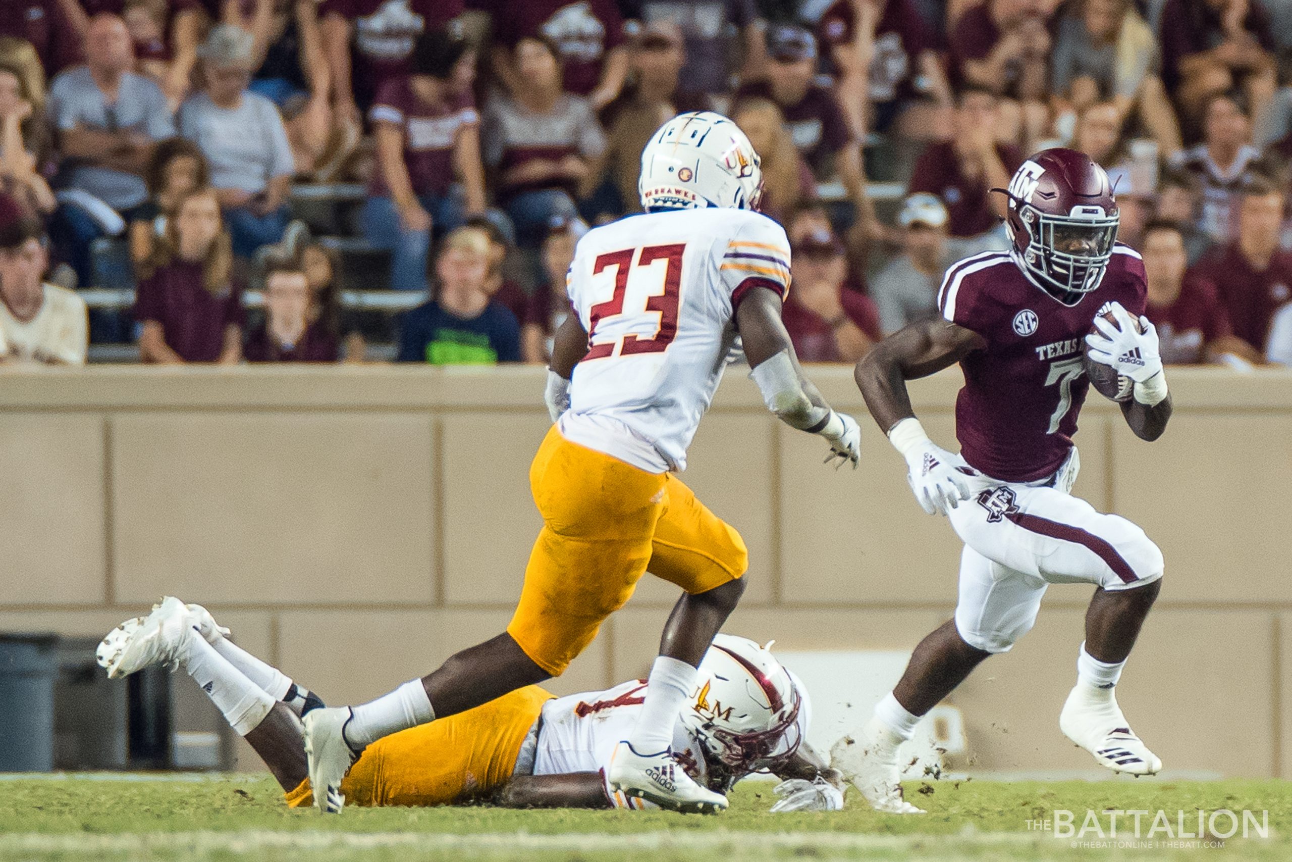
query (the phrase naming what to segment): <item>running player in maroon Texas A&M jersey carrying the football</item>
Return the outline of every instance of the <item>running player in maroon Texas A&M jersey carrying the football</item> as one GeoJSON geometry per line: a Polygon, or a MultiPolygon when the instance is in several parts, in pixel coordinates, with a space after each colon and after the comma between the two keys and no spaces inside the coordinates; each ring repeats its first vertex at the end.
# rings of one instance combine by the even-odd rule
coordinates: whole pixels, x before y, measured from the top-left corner
{"type": "Polygon", "coordinates": [[[920,810],[902,799],[897,747],[978,663],[1032,627],[1052,583],[1097,587],[1059,728],[1115,772],[1162,768],[1114,693],[1158,596],[1162,552],[1136,525],[1068,494],[1087,345],[1092,359],[1133,381],[1121,412],[1136,436],[1156,439],[1171,417],[1158,335],[1143,317],[1143,262],[1115,242],[1109,177],[1085,155],[1039,152],[1003,191],[1013,247],[951,266],[941,318],[895,332],[857,364],[866,405],[906,457],[916,499],[948,516],[965,543],[955,619],[920,642],[863,744],[835,761],[880,810],[920,810]],[[906,388],[956,362],[965,376],[959,455],[924,433],[906,388]]]}

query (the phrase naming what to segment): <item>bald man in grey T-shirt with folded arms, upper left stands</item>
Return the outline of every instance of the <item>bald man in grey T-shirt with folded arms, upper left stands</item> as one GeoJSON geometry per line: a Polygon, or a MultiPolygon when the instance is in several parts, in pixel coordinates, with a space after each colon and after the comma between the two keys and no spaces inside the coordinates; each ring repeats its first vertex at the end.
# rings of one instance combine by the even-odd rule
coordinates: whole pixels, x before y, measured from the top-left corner
{"type": "Polygon", "coordinates": [[[54,78],[47,112],[57,131],[63,190],[52,233],[81,284],[90,283],[90,243],[124,230],[121,216],[147,199],[142,173],[158,141],[174,134],[162,88],[130,71],[125,23],[97,14],[85,34],[85,65],[54,78]]]}

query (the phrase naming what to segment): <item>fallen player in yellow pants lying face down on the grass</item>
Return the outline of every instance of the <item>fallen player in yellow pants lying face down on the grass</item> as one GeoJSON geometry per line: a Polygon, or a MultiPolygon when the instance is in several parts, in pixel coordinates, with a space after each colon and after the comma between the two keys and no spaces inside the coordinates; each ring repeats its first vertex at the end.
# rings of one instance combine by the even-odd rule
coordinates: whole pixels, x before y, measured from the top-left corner
{"type": "MultiPolygon", "coordinates": [[[[167,597],[109,632],[97,658],[114,678],[154,664],[182,668],[261,756],[287,804],[311,805],[300,716],[323,702],[226,635],[200,605],[167,597]]],[[[565,698],[525,686],[384,737],[363,751],[341,791],[355,805],[656,808],[606,781],[645,694],[645,680],[565,698]]],[[[809,720],[808,691],[770,651],[718,635],[673,725],[669,770],[722,794],[769,772],[783,779],[771,810],[839,810],[842,781],[805,741],[809,720]]]]}

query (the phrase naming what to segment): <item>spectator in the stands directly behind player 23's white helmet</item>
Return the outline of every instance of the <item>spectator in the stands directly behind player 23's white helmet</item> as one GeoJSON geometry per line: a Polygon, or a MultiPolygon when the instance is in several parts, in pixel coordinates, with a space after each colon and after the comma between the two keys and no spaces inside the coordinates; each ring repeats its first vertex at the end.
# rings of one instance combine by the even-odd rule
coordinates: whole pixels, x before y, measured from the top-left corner
{"type": "Polygon", "coordinates": [[[707,98],[690,88],[690,81],[681,87],[686,53],[682,31],[674,22],[646,25],[630,47],[629,61],[628,85],[602,111],[607,125],[606,171],[616,193],[616,212],[641,212],[637,176],[642,147],[655,131],[677,114],[708,106],[707,98]]]}

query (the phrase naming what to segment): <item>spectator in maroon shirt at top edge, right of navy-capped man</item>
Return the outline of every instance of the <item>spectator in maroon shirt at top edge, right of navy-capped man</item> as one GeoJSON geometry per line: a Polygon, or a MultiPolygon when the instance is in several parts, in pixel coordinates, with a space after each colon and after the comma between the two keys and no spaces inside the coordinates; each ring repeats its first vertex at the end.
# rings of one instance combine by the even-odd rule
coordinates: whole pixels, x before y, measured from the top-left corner
{"type": "Polygon", "coordinates": [[[817,23],[835,68],[835,94],[854,129],[938,137],[951,107],[942,45],[913,0],[835,0],[817,23]]]}

